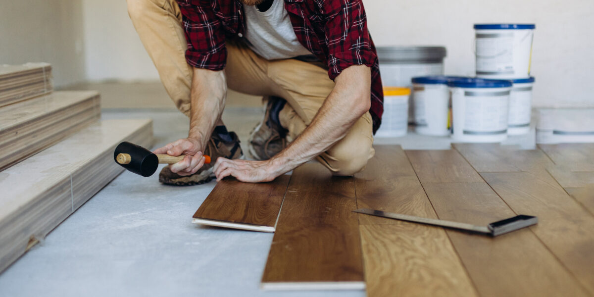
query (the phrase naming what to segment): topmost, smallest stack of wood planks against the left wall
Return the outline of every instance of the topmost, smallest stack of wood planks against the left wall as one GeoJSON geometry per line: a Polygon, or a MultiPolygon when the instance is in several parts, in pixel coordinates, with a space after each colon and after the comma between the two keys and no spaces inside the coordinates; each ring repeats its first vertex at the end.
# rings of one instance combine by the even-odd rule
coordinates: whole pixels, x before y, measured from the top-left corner
{"type": "Polygon", "coordinates": [[[52,90],[52,66],[48,63],[0,65],[0,107],[52,90]]]}

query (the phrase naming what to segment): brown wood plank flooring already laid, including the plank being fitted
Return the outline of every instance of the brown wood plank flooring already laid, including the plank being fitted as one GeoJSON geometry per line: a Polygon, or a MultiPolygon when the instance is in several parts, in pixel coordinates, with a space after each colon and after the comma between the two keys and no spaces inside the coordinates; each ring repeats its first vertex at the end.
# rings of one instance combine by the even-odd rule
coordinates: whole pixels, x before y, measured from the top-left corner
{"type": "Polygon", "coordinates": [[[195,222],[258,230],[277,217],[263,289],[594,296],[594,195],[587,194],[594,189],[592,144],[375,149],[354,178],[308,163],[293,170],[288,184],[286,176],[261,187],[224,179],[195,222]],[[539,223],[490,238],[353,213],[357,208],[481,226],[529,214],[539,223]]]}

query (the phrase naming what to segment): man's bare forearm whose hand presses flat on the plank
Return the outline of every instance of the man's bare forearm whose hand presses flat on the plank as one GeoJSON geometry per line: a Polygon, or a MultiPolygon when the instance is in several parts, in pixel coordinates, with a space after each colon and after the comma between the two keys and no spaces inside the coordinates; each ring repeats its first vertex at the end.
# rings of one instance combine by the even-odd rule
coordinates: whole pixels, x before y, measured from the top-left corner
{"type": "Polygon", "coordinates": [[[369,110],[371,71],[364,65],[345,69],[311,124],[285,150],[271,159],[275,170],[286,172],[314,159],[341,140],[369,110]]]}

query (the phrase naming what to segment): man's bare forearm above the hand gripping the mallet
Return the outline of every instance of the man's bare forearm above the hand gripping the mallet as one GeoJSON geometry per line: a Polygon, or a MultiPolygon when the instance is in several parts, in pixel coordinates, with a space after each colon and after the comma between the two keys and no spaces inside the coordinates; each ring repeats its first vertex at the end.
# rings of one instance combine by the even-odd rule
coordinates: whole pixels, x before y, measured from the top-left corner
{"type": "Polygon", "coordinates": [[[214,126],[220,122],[226,93],[224,71],[194,68],[188,137],[199,139],[202,147],[206,147],[214,126]]]}

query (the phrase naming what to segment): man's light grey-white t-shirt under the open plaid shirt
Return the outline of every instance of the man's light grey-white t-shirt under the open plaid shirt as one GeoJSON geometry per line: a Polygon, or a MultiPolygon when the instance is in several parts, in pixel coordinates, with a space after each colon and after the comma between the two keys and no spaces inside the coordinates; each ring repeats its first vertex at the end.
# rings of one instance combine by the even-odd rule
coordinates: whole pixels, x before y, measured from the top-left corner
{"type": "Polygon", "coordinates": [[[267,11],[244,5],[245,38],[248,46],[264,59],[289,59],[311,55],[299,43],[283,0],[273,0],[267,11]]]}

